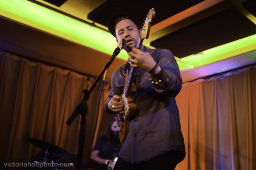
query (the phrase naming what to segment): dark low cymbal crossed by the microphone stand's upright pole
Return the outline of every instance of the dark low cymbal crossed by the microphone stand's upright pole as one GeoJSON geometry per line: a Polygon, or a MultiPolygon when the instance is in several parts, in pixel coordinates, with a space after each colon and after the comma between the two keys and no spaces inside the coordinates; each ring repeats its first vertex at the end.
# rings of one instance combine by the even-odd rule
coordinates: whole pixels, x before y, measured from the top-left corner
{"type": "MultiPolygon", "coordinates": [[[[68,154],[68,153],[60,153],[53,155],[53,162],[56,163],[74,163],[74,166],[77,164],[78,155],[68,154]]],[[[82,158],[82,167],[86,167],[86,163],[88,161],[88,168],[94,168],[98,165],[98,162],[93,159],[87,159],[85,157],[82,158]]]]}

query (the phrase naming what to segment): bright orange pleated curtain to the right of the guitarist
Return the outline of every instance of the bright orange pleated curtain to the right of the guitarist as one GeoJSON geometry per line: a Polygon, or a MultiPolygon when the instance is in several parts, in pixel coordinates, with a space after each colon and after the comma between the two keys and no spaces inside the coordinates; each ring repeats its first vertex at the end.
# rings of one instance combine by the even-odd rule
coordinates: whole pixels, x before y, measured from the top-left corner
{"type": "Polygon", "coordinates": [[[176,170],[256,169],[256,70],[184,83],[176,98],[187,155],[176,170]]]}

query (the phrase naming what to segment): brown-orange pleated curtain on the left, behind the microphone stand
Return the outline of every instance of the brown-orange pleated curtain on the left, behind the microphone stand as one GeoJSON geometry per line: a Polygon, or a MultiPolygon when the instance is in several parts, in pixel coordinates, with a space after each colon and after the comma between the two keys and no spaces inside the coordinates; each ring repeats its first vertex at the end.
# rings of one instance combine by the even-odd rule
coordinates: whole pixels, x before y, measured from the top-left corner
{"type": "MultiPolygon", "coordinates": [[[[89,89],[94,80],[74,71],[0,52],[0,163],[27,162],[38,154],[41,149],[27,138],[51,142],[76,154],[80,115],[69,126],[66,121],[82,99],[83,90],[89,89]]],[[[101,86],[99,82],[87,101],[85,157],[93,135],[101,86]]],[[[106,82],[99,119],[109,88],[106,82]]]]}

